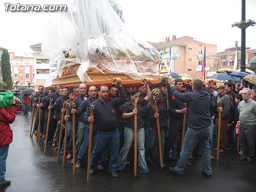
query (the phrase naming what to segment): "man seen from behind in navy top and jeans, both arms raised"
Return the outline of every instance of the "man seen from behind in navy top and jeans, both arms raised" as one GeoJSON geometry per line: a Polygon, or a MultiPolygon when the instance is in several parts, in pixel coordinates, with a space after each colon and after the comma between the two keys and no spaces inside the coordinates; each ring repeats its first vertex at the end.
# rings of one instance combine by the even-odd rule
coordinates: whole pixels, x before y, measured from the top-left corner
{"type": "Polygon", "coordinates": [[[209,81],[205,81],[206,91],[202,90],[202,80],[196,79],[192,84],[193,92],[180,93],[174,86],[174,78],[170,78],[168,83],[171,87],[171,92],[175,98],[182,102],[188,103],[188,130],[184,137],[184,144],[180,152],[180,158],[176,167],[170,167],[170,172],[177,176],[182,176],[183,170],[186,167],[188,158],[196,144],[199,144],[202,152],[202,168],[203,175],[212,176],[212,165],[209,149],[210,137],[210,93],[209,81]]]}

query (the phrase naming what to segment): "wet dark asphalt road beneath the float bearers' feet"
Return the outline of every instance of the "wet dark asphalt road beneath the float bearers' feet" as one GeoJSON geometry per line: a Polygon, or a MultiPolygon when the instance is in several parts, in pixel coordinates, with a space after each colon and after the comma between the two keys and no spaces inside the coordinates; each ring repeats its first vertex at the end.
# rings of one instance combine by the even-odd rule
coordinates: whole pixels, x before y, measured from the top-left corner
{"type": "MultiPolygon", "coordinates": [[[[212,161],[212,178],[201,174],[202,158],[189,160],[193,166],[187,166],[182,177],[170,174],[168,169],[160,169],[158,164],[149,165],[150,173],[134,177],[133,167],[119,172],[120,178],[108,174],[108,164],[104,158],[104,171],[96,171],[86,181],[86,160],[80,170],[72,174],[70,160],[62,167],[62,155],[56,162],[57,151],[48,144],[44,155],[44,144],[36,142],[36,136],[30,138],[32,115],[18,113],[11,124],[13,142],[10,144],[7,158],[6,179],[11,185],[0,188],[0,192],[69,192],[69,191],[256,191],[256,161],[252,164],[238,161],[240,157],[231,151],[220,154],[220,160],[212,161]]],[[[216,146],[216,143],[214,143],[216,146]]],[[[174,150],[175,152],[175,150],[174,150]]],[[[216,157],[216,152],[213,152],[216,157]]],[[[167,166],[176,162],[166,161],[167,166]]]]}

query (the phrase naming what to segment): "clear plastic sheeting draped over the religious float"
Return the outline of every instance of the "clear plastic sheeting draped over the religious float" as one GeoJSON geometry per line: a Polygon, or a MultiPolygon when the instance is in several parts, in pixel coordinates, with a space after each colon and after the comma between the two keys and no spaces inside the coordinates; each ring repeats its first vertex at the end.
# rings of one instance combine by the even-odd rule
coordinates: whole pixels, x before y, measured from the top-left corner
{"type": "MultiPolygon", "coordinates": [[[[110,3],[113,6],[114,2],[110,0],[110,3]]],[[[105,70],[126,74],[133,79],[158,76],[159,52],[148,42],[132,36],[110,3],[108,0],[74,0],[67,11],[51,14],[42,52],[50,60],[62,60],[51,79],[60,77],[61,66],[70,62],[80,64],[76,73],[82,82],[91,81],[86,71],[92,68],[102,73],[105,70]],[[64,58],[66,51],[76,58],[64,58]]]]}

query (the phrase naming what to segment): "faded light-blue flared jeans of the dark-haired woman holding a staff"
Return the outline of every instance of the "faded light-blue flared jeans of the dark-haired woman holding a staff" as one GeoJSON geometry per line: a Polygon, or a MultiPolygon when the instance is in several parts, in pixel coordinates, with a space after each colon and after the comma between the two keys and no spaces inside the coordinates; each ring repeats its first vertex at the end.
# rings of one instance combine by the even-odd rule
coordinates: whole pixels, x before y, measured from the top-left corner
{"type": "MultiPolygon", "coordinates": [[[[138,146],[138,172],[148,173],[148,167],[145,159],[145,148],[144,148],[144,128],[137,129],[137,146],[138,146]]],[[[128,158],[129,150],[132,146],[134,140],[134,129],[124,128],[124,146],[122,147],[119,156],[118,156],[118,170],[122,171],[125,168],[126,161],[128,158]]]]}

